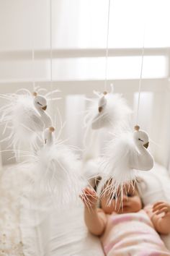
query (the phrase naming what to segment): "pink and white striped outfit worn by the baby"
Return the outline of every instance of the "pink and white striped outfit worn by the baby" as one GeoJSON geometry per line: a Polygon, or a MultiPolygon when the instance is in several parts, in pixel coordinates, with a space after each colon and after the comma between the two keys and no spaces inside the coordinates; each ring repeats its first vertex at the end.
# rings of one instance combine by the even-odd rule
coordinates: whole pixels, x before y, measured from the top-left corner
{"type": "Polygon", "coordinates": [[[170,256],[145,210],[108,215],[101,240],[107,256],[170,256]]]}

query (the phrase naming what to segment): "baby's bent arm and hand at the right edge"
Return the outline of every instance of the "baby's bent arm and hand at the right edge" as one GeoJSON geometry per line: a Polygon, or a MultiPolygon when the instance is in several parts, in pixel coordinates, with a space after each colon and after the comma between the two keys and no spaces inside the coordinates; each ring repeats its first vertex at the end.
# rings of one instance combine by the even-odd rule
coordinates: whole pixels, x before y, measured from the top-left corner
{"type": "Polygon", "coordinates": [[[149,215],[158,233],[170,233],[170,205],[168,202],[156,202],[149,215]]]}

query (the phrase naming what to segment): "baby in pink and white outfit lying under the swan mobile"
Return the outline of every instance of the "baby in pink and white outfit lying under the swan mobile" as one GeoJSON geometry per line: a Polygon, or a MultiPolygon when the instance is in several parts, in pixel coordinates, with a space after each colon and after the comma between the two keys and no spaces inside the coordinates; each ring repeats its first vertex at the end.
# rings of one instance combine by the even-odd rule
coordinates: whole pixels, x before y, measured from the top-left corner
{"type": "Polygon", "coordinates": [[[170,255],[158,235],[170,233],[169,203],[156,202],[143,208],[138,189],[132,184],[125,185],[121,198],[113,197],[110,205],[109,195],[102,195],[101,208],[97,208],[94,189],[86,187],[81,196],[86,226],[91,234],[101,237],[105,255],[170,255]]]}

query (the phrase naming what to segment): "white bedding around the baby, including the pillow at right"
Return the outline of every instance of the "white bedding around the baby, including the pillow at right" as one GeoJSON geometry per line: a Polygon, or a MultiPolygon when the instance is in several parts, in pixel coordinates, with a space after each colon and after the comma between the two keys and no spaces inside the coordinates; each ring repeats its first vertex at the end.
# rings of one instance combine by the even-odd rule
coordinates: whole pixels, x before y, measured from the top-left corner
{"type": "MultiPolygon", "coordinates": [[[[42,208],[41,198],[37,210],[32,210],[30,200],[22,195],[25,178],[22,170],[13,167],[1,176],[0,235],[8,234],[8,249],[13,245],[18,249],[6,255],[20,256],[23,250],[25,256],[104,256],[99,239],[86,229],[84,207],[79,198],[65,210],[49,208],[48,211],[42,208]]],[[[141,193],[145,203],[170,202],[170,179],[164,168],[156,164],[153,171],[143,173],[143,179],[141,193]]],[[[163,239],[170,249],[170,237],[163,239]]],[[[0,250],[6,248],[3,246],[0,250]]]]}

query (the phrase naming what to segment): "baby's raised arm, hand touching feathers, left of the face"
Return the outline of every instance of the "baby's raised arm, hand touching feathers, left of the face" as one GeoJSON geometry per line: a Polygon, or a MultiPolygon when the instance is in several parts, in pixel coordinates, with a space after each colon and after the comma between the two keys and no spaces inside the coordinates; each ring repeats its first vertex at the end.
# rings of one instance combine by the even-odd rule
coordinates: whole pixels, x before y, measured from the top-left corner
{"type": "Polygon", "coordinates": [[[81,200],[84,202],[84,220],[87,228],[96,236],[100,236],[104,232],[107,218],[102,209],[97,208],[97,193],[94,189],[88,187],[84,189],[84,194],[81,195],[81,200]]]}

